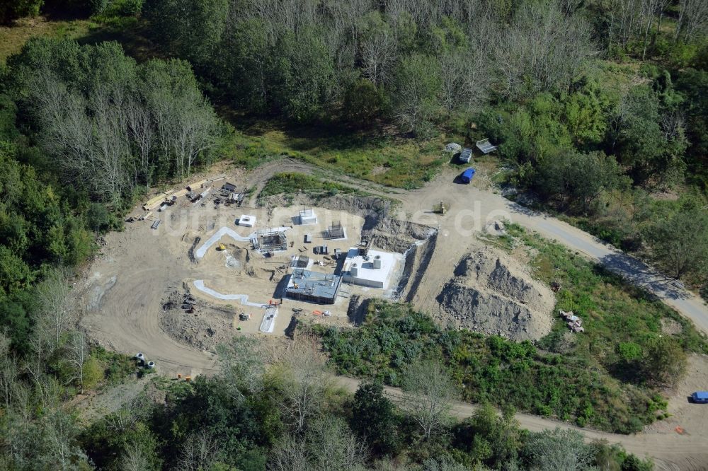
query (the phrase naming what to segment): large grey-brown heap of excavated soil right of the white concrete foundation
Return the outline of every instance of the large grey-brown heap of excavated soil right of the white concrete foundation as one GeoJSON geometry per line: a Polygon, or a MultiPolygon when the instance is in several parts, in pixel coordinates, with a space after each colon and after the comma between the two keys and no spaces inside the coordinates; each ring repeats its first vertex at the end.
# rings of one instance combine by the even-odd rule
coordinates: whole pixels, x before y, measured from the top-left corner
{"type": "Polygon", "coordinates": [[[515,262],[489,249],[462,258],[438,295],[443,320],[516,341],[551,332],[552,291],[515,262]]]}

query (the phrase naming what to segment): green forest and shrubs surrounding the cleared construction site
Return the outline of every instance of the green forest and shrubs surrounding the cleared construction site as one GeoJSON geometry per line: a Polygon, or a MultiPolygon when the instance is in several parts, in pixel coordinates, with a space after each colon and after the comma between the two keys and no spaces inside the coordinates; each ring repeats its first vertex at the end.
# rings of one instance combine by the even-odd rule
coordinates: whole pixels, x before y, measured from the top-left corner
{"type": "MultiPolygon", "coordinates": [[[[156,381],[152,398],[98,421],[72,400],[122,384],[135,364],[89,344],[69,300],[127,209],[217,161],[250,168],[287,155],[413,188],[447,165],[447,141],[484,137],[498,145],[495,183],[511,198],[708,298],[707,0],[0,4],[11,33],[37,16],[72,27],[8,40],[0,58],[1,468],[651,469],[617,446],[513,421],[525,409],[636,431],[666,407],[652,388],[680,374],[687,352],[706,349],[695,330],[651,343],[644,334],[670,317],[665,308],[624,301],[617,280],[554,247],[536,248],[570,270],[561,303],[637,313],[639,330],[602,355],[561,360],[553,332],[537,346],[511,344],[445,332],[407,306],[372,306],[355,332],[303,327],[302,351],[268,371],[244,354],[265,352],[234,340],[214,378],[156,381]],[[616,303],[593,297],[600,287],[616,303]],[[403,367],[436,355],[442,362],[423,362],[426,371],[403,367]],[[661,377],[622,375],[659,363],[661,377]],[[370,383],[350,397],[323,380],[327,368],[370,383]],[[416,374],[433,373],[450,400],[486,406],[431,422],[383,395],[382,383],[400,386],[416,403],[416,374]],[[514,382],[532,404],[490,393],[514,382]],[[462,384],[475,388],[460,395],[462,384]],[[312,408],[297,407],[313,391],[312,408]],[[619,395],[641,400],[613,409],[619,395]]],[[[304,175],[268,185],[266,194],[352,191],[304,175]]],[[[615,322],[601,321],[608,332],[615,322]]]]}

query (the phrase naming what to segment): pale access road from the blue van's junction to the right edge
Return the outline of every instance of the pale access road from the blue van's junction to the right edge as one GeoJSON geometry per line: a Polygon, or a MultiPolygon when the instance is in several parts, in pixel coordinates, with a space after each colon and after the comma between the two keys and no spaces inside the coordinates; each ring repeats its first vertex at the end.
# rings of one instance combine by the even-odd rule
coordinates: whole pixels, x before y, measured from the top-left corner
{"type": "MultiPolygon", "coordinates": [[[[510,202],[501,194],[485,188],[484,180],[473,180],[473,185],[461,185],[454,181],[456,176],[457,170],[447,169],[424,187],[395,195],[402,202],[399,209],[401,214],[397,215],[399,219],[426,224],[440,230],[435,257],[426,271],[426,276],[435,277],[435,274],[440,274],[440,279],[435,280],[438,283],[426,283],[427,286],[435,288],[447,281],[445,277],[451,272],[447,265],[457,262],[459,257],[469,250],[474,244],[472,236],[481,231],[486,223],[508,219],[537,231],[546,238],[556,240],[633,284],[644,287],[692,320],[699,330],[708,333],[706,304],[693,293],[683,289],[675,280],[568,223],[510,202]],[[445,215],[432,211],[440,201],[445,202],[445,215]],[[445,255],[440,256],[438,250],[442,250],[445,255]]],[[[417,293],[416,298],[435,297],[437,294],[421,292],[417,293]]]]}

